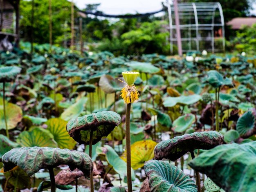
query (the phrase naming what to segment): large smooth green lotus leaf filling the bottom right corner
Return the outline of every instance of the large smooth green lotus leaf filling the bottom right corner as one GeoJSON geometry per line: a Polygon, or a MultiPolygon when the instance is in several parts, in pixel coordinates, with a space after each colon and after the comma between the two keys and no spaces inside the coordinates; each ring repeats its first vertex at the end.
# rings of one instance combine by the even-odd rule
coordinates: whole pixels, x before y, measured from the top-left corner
{"type": "Polygon", "coordinates": [[[195,157],[189,166],[207,174],[225,191],[253,192],[256,186],[256,141],[214,147],[195,157]]]}

